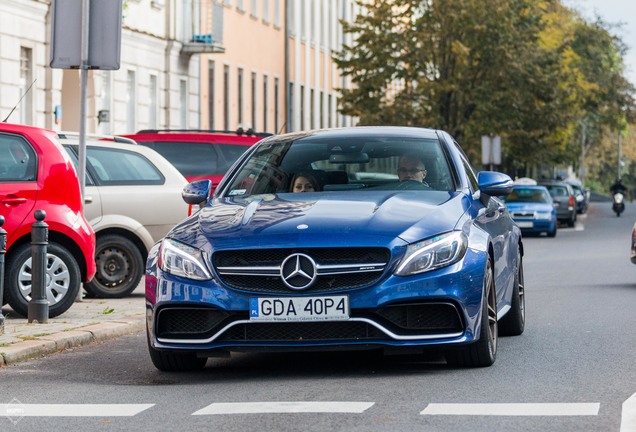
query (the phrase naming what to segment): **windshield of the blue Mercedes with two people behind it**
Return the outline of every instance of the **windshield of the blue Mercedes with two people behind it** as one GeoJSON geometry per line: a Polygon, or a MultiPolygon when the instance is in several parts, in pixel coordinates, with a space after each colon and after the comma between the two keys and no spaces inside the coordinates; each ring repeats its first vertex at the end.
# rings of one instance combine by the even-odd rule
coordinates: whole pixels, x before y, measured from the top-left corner
{"type": "Polygon", "coordinates": [[[373,189],[454,190],[440,142],[309,136],[263,143],[243,163],[226,195],[373,189]]]}

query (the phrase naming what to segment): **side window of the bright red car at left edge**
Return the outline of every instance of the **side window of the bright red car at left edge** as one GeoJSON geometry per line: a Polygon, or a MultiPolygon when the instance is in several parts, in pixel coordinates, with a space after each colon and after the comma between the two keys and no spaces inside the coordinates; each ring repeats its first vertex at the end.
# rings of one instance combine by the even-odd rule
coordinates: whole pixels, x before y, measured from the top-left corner
{"type": "Polygon", "coordinates": [[[0,182],[34,181],[36,168],[35,151],[26,140],[0,134],[0,182]]]}

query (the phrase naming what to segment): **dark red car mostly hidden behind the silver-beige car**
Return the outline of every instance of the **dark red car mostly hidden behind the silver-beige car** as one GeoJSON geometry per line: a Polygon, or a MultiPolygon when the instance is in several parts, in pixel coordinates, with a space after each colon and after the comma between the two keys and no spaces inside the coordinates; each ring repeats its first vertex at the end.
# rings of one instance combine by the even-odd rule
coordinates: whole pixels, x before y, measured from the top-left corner
{"type": "Polygon", "coordinates": [[[210,179],[214,187],[251,145],[267,133],[216,130],[141,130],[123,135],[168,159],[189,181],[210,179]]]}

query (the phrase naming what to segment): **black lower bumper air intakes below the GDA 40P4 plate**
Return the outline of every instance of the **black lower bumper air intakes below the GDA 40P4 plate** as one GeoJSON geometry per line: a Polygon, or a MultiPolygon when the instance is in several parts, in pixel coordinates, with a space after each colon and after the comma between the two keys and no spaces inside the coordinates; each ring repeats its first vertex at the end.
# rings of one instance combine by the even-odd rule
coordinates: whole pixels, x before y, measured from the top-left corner
{"type": "MultiPolygon", "coordinates": [[[[457,334],[463,331],[457,308],[450,303],[396,304],[378,310],[354,310],[352,318],[366,318],[399,336],[457,334]]],[[[245,322],[248,313],[204,308],[166,308],[157,315],[159,339],[209,339],[215,342],[359,341],[389,336],[362,321],[245,322]]]]}

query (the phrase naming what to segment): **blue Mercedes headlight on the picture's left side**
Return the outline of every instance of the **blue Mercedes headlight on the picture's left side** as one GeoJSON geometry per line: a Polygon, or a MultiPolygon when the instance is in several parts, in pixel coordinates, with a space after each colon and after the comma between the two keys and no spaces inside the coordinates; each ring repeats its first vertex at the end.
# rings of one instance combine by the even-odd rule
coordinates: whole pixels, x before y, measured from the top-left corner
{"type": "Polygon", "coordinates": [[[159,267],[166,273],[194,280],[210,280],[212,275],[203,252],[172,239],[161,242],[159,267]]]}

